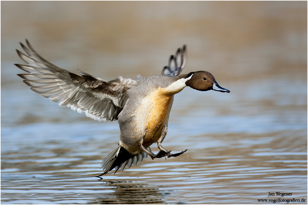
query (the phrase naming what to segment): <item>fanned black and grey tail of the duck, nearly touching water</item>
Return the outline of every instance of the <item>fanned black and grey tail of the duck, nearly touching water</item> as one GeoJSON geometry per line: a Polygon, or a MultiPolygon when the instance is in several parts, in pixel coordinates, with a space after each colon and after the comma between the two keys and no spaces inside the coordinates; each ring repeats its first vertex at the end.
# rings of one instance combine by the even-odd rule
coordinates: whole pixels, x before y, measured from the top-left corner
{"type": "MultiPolygon", "coordinates": [[[[147,149],[151,151],[150,147],[147,149]]],[[[101,165],[104,172],[101,175],[105,175],[113,169],[115,169],[114,173],[116,173],[119,169],[123,171],[126,166],[130,168],[132,165],[137,165],[137,162],[141,162],[143,159],[147,158],[147,156],[148,155],[145,152],[140,152],[136,155],[131,154],[119,144],[116,148],[109,152],[102,161],[101,165]]]]}

